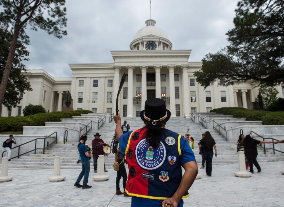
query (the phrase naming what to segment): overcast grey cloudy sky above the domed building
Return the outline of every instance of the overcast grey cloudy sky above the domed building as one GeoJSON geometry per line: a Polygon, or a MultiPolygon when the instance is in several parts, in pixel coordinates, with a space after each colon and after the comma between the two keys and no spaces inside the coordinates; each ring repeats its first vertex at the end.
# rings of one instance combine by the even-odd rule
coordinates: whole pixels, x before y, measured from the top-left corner
{"type": "MultiPolygon", "coordinates": [[[[152,19],[163,29],[173,50],[192,49],[189,61],[227,45],[238,0],[152,0],[152,19]]],[[[112,63],[110,50],[130,50],[136,32],[150,18],[148,0],[66,0],[68,35],[57,39],[27,29],[29,69],[53,77],[71,77],[68,63],[112,63]]]]}

